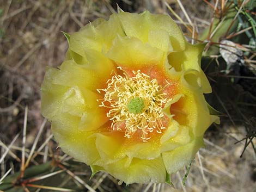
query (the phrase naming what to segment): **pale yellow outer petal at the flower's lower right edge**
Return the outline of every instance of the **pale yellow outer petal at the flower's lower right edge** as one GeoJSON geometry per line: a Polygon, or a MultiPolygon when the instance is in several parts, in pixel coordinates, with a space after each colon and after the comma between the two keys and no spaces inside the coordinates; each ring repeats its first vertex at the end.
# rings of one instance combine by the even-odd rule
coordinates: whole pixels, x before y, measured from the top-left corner
{"type": "Polygon", "coordinates": [[[194,158],[196,152],[203,146],[203,138],[194,138],[190,143],[175,148],[172,151],[162,153],[163,162],[166,166],[168,174],[173,174],[176,171],[188,165],[194,158]]]}

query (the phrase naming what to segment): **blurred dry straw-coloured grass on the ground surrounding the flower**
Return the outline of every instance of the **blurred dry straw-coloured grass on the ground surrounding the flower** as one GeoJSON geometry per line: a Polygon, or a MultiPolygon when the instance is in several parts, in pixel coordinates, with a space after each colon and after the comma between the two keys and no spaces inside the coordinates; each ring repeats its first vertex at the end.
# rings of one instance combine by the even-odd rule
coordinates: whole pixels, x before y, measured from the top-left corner
{"type": "MultiPolygon", "coordinates": [[[[220,126],[212,126],[206,132],[206,147],[197,153],[186,187],[182,186],[185,169],[172,176],[176,189],[167,184],[119,185],[103,172],[90,180],[88,166],[56,149],[50,123],[40,114],[39,88],[45,67],[58,66],[64,60],[68,44],[61,31],[76,32],[97,17],[107,18],[117,9],[116,3],[125,11],[148,9],[172,15],[191,42],[211,24],[214,9],[203,1],[164,2],[0,1],[0,181],[7,175],[31,169],[35,175],[22,182],[21,191],[255,191],[256,158],[252,147],[252,143],[256,145],[255,139],[251,142],[244,139],[252,131],[255,133],[255,76],[247,78],[244,72],[242,75],[246,77],[240,75],[239,83],[234,84],[230,82],[231,75],[221,73],[220,66],[206,66],[205,71],[214,88],[208,100],[225,115],[220,126]],[[249,145],[240,158],[245,141],[249,145]],[[37,175],[40,171],[32,165],[45,165],[52,159],[53,164],[47,165],[46,172],[37,175]],[[51,170],[52,167],[55,169],[51,170]]],[[[255,65],[252,55],[247,59],[255,65]]]]}

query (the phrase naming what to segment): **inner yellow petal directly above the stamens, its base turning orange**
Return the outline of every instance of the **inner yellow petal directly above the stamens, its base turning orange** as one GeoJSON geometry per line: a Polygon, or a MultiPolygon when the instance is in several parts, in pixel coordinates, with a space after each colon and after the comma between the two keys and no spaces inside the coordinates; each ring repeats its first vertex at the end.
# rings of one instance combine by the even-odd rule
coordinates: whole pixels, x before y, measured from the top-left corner
{"type": "Polygon", "coordinates": [[[120,66],[133,67],[133,70],[163,62],[163,52],[160,49],[128,36],[118,36],[106,56],[120,66]]]}

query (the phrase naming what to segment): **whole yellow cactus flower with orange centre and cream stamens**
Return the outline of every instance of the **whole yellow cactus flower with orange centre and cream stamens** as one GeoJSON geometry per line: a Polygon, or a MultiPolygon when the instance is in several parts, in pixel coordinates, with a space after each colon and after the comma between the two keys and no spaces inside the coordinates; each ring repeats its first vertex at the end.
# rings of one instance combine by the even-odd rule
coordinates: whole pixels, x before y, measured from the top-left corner
{"type": "Polygon", "coordinates": [[[62,150],[125,183],[165,182],[193,159],[218,117],[204,93],[204,45],[167,15],[119,13],[71,34],[41,86],[41,112],[62,150]]]}

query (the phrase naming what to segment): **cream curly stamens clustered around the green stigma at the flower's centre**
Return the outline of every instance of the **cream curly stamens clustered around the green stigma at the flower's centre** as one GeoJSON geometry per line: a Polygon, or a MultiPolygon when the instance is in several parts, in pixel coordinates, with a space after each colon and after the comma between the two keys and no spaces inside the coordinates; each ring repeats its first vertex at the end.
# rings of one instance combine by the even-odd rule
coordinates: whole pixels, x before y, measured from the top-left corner
{"type": "MultiPolygon", "coordinates": [[[[121,68],[120,68],[121,69],[121,68]]],[[[100,107],[108,108],[107,117],[112,121],[111,128],[123,131],[125,138],[136,132],[142,141],[147,142],[153,132],[161,134],[164,114],[162,109],[169,100],[156,79],[140,70],[133,71],[133,77],[115,74],[107,81],[100,107]]]]}

